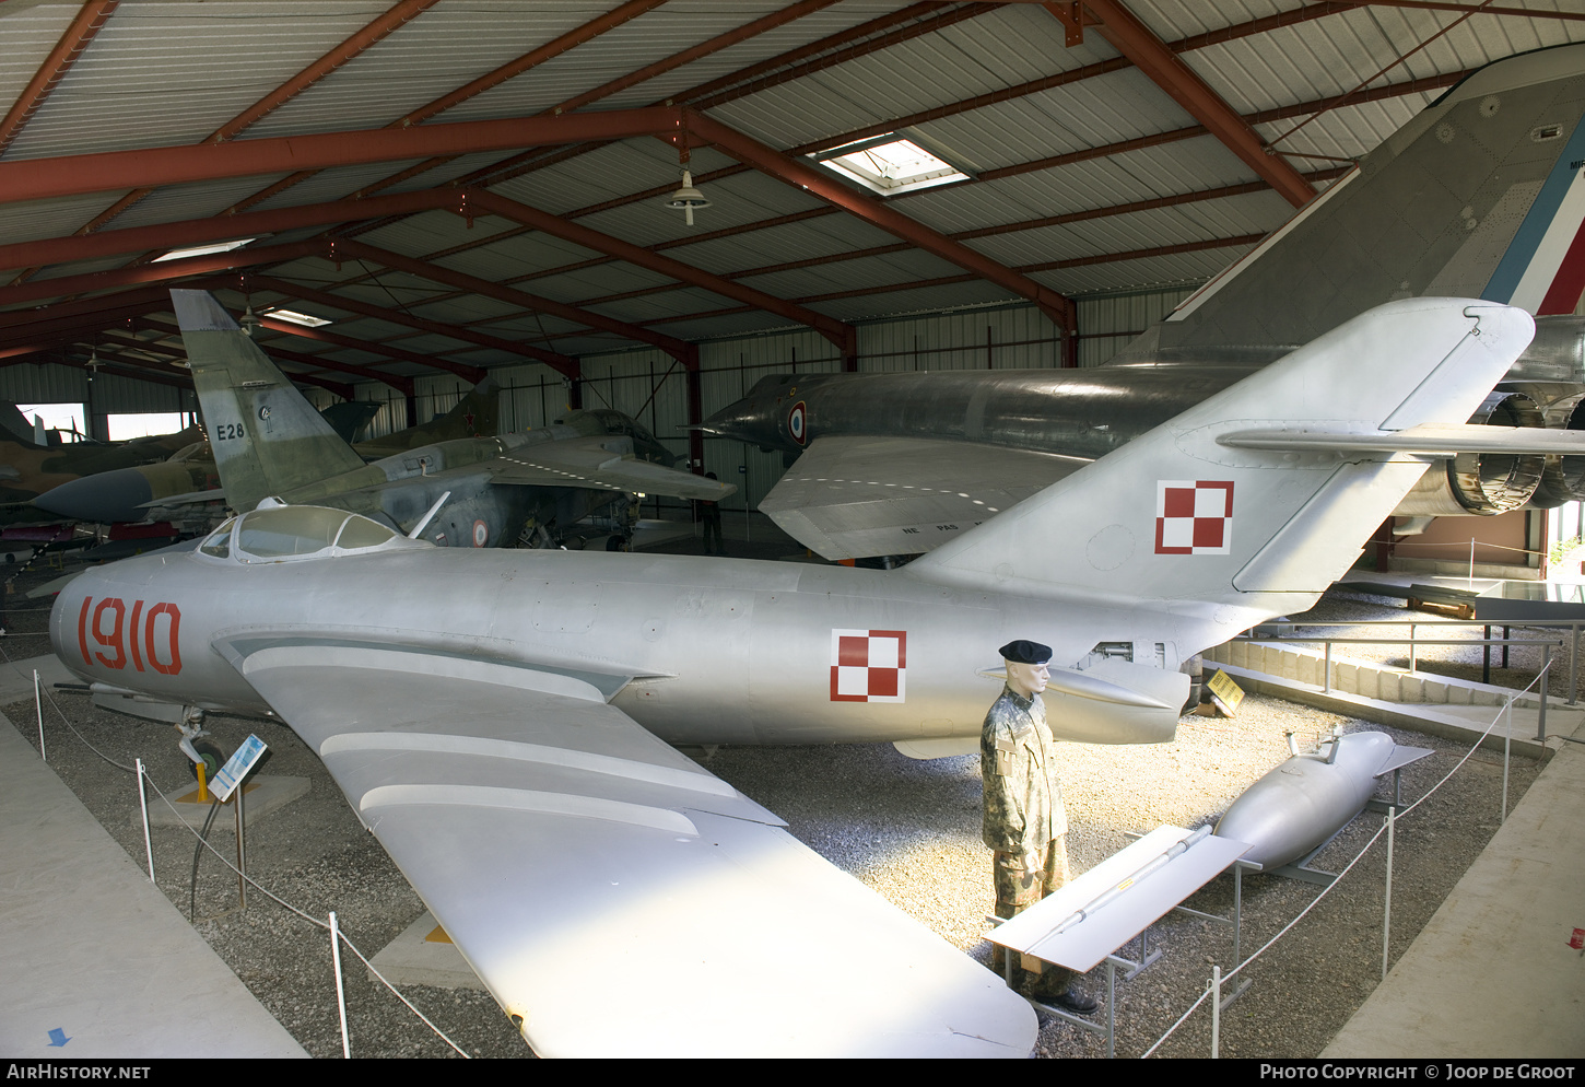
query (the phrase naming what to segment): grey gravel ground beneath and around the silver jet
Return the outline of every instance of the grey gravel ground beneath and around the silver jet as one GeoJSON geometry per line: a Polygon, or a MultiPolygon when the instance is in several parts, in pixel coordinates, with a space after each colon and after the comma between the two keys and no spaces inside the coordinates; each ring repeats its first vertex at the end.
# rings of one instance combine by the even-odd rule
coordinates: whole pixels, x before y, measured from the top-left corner
{"type": "MultiPolygon", "coordinates": [[[[43,612],[22,612],[19,597],[0,642],[10,659],[40,651],[43,612]]],[[[1373,618],[1374,605],[1357,597],[1328,597],[1316,618],[1373,618]]],[[[1403,618],[1392,608],[1392,618],[1403,618]]],[[[1515,661],[1517,664],[1518,661],[1515,661]]],[[[1455,661],[1457,664],[1457,661],[1455,661]]],[[[1465,666],[1458,666],[1465,667],[1465,666]]],[[[1476,666],[1479,667],[1479,659],[1476,666]]],[[[1528,675],[1523,681],[1528,681],[1528,675]]],[[[1501,680],[1498,680],[1501,681],[1501,680]]],[[[987,697],[989,697],[987,691],[987,697]]],[[[157,724],[95,710],[84,696],[55,702],[82,735],[108,757],[130,764],[141,756],[162,789],[185,788],[190,775],[174,734],[157,724]]],[[[987,702],[989,704],[989,702],[987,702]]],[[[33,740],[32,702],[5,707],[33,740]]],[[[1152,746],[1062,745],[1062,775],[1071,824],[1070,856],[1083,872],[1127,845],[1129,832],[1159,824],[1197,826],[1222,810],[1255,778],[1285,757],[1284,732],[1309,740],[1335,724],[1377,727],[1403,743],[1436,754],[1404,772],[1404,799],[1425,794],[1463,754],[1455,745],[1412,732],[1365,726],[1319,710],[1251,696],[1236,719],[1187,716],[1178,738],[1152,746]]],[[[287,902],[323,917],[336,910],[352,941],[372,955],[423,906],[361,830],[323,765],[284,726],[211,716],[217,742],[233,749],[249,732],[273,748],[265,773],[300,775],[309,795],[260,819],[249,830],[249,868],[287,902]]],[[[82,799],[113,837],[143,864],[136,786],[46,713],[51,767],[82,799]]],[[[781,814],[794,835],[853,873],[899,908],[975,959],[989,959],[984,916],[991,911],[989,852],[980,843],[980,765],[976,757],[915,762],[881,746],[721,748],[705,765],[781,814]]],[[[1514,805],[1537,765],[1515,759],[1514,805]]],[[[1393,957],[1396,959],[1465,873],[1498,827],[1501,757],[1477,753],[1431,800],[1398,827],[1393,884],[1393,957]]],[[[1381,826],[1358,819],[1317,859],[1339,870],[1381,826]]],[[[211,835],[233,848],[228,826],[211,835]]],[[[1314,1057],[1360,1006],[1381,976],[1385,843],[1377,843],[1347,879],[1292,933],[1247,968],[1249,992],[1222,1017],[1222,1054],[1228,1057],[1314,1057]]],[[[185,914],[193,838],[185,830],[154,830],[160,887],[185,914]]],[[[1244,883],[1243,954],[1270,940],[1317,894],[1309,884],[1273,876],[1244,883]]],[[[1228,914],[1232,883],[1214,881],[1190,900],[1206,913],[1228,914]]],[[[212,857],[200,870],[198,932],[265,1006],[314,1055],[339,1054],[336,997],[328,938],[295,914],[249,894],[236,908],[236,879],[212,857]]],[[[1157,925],[1152,946],[1163,957],[1132,982],[1119,981],[1117,1054],[1140,1055],[1203,992],[1211,963],[1230,968],[1225,927],[1173,914],[1157,925]]],[[[854,955],[854,968],[864,968],[854,955]]],[[[347,968],[352,1052],[360,1057],[442,1057],[450,1051],[393,997],[347,968]]],[[[1105,990],[1105,968],[1086,982],[1105,990]]],[[[412,989],[409,998],[472,1055],[521,1057],[521,1038],[483,994],[412,989]]],[[[1038,1055],[1103,1055],[1100,1036],[1041,1019],[1038,1055]]],[[[1159,1055],[1209,1052],[1209,1014],[1197,1011],[1159,1055]]]]}

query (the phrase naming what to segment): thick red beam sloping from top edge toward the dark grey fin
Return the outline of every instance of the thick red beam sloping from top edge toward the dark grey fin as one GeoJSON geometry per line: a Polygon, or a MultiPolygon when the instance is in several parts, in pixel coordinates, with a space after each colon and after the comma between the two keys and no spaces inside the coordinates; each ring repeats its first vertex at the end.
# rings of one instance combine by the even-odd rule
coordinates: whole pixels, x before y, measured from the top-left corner
{"type": "Polygon", "coordinates": [[[1084,3],[1102,21],[1102,25],[1097,27],[1100,36],[1132,60],[1155,86],[1171,95],[1173,101],[1189,111],[1189,116],[1205,125],[1246,166],[1254,170],[1255,176],[1265,177],[1284,200],[1300,208],[1316,195],[1316,190],[1293,170],[1292,163],[1271,154],[1271,149],[1249,122],[1222,101],[1222,97],[1132,11],[1122,6],[1121,0],[1084,0],[1084,3]]]}

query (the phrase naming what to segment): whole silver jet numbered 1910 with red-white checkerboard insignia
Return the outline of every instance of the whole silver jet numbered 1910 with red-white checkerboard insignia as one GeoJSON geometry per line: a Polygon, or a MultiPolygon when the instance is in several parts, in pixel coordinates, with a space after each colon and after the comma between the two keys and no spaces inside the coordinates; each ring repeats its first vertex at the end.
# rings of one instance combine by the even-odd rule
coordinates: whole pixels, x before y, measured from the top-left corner
{"type": "Polygon", "coordinates": [[[1309,607],[1531,333],[1384,306],[899,570],[266,504],[79,575],[51,639],[101,696],[287,723],[539,1054],[1022,1057],[1027,1003],[667,745],[973,746],[1014,637],[1059,738],[1168,740],[1181,661],[1309,607]]]}

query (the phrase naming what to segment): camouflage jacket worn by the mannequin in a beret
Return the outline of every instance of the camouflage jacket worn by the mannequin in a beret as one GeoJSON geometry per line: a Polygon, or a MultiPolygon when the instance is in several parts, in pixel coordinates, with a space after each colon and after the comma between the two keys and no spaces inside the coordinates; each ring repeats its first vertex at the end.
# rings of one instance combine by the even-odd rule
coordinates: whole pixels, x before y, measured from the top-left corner
{"type": "Polygon", "coordinates": [[[981,838],[994,851],[1037,852],[1068,832],[1054,756],[1056,742],[1040,696],[1024,699],[1002,688],[980,734],[981,838]]]}

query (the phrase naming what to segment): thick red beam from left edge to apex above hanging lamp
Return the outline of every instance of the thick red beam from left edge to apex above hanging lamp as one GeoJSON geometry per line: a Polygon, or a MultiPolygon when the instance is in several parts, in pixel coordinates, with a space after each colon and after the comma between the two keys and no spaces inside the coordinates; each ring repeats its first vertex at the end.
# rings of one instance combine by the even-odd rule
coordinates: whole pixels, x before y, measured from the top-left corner
{"type": "Polygon", "coordinates": [[[670,133],[678,124],[678,109],[651,106],[29,158],[0,163],[0,193],[5,203],[17,203],[125,189],[128,184],[141,189],[534,144],[656,136],[670,133]]]}

